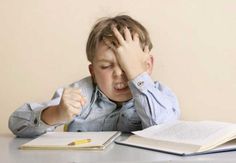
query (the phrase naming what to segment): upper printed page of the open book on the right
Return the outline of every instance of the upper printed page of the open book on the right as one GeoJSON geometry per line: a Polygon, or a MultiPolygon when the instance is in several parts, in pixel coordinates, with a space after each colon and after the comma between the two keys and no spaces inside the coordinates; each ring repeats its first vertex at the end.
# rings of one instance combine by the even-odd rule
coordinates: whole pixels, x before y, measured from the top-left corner
{"type": "Polygon", "coordinates": [[[215,121],[177,121],[156,125],[142,131],[133,132],[136,135],[170,142],[203,145],[214,142],[232,132],[236,125],[215,121]]]}

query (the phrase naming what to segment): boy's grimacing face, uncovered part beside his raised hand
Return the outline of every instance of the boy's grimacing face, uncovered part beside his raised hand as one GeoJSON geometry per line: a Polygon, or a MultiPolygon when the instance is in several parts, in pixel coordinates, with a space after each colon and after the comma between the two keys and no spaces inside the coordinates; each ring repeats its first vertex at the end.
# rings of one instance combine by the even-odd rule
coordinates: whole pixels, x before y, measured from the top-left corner
{"type": "Polygon", "coordinates": [[[99,44],[89,70],[100,90],[112,101],[124,102],[132,98],[128,79],[116,55],[105,44],[99,44]]]}

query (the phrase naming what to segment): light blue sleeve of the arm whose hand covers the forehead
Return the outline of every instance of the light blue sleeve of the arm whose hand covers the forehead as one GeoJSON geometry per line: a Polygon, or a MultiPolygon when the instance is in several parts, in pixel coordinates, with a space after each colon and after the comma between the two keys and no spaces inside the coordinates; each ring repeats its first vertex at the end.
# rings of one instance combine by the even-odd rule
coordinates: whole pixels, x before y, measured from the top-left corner
{"type": "Polygon", "coordinates": [[[130,81],[129,87],[143,128],[179,118],[180,109],[174,93],[164,85],[153,82],[146,72],[130,81]]]}

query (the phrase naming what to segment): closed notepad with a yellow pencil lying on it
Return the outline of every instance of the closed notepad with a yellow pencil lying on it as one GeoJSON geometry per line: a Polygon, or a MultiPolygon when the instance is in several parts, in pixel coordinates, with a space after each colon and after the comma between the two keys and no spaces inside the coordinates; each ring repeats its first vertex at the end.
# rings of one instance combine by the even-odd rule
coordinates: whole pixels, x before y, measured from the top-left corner
{"type": "Polygon", "coordinates": [[[121,133],[106,132],[48,132],[20,146],[20,149],[88,149],[102,150],[121,133]]]}

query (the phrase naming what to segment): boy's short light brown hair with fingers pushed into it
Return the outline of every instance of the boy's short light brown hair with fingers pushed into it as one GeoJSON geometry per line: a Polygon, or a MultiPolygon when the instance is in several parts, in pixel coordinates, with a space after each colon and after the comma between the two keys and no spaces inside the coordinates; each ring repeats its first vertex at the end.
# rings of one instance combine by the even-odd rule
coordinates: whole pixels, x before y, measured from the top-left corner
{"type": "Polygon", "coordinates": [[[93,61],[98,45],[104,39],[117,45],[118,41],[111,30],[112,25],[115,25],[122,35],[124,35],[124,28],[127,27],[132,34],[138,34],[142,49],[144,49],[145,46],[148,46],[149,50],[152,49],[152,42],[149,34],[145,27],[139,22],[127,15],[119,15],[111,18],[105,17],[98,20],[98,22],[93,26],[88,37],[86,45],[88,61],[93,61]]]}

